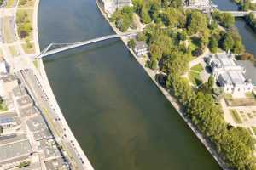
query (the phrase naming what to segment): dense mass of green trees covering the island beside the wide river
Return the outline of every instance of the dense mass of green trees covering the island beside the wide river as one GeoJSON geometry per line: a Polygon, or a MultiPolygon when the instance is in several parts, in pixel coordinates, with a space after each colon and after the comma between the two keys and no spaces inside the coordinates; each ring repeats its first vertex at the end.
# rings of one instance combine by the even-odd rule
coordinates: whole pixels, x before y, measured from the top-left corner
{"type": "Polygon", "coordinates": [[[134,28],[133,15],[145,26],[136,39],[148,44],[145,67],[157,70],[155,79],[174,96],[183,116],[201,132],[218,157],[230,169],[256,170],[255,140],[246,128],[232,127],[224,121],[223,111],[214,98],[213,77],[201,87],[190,85],[185,77],[189,62],[207,50],[245,56],[241,36],[231,14],[218,10],[209,17],[199,10],[183,8],[182,0],[133,0],[132,7],[117,10],[109,19],[119,31],[134,28]]]}

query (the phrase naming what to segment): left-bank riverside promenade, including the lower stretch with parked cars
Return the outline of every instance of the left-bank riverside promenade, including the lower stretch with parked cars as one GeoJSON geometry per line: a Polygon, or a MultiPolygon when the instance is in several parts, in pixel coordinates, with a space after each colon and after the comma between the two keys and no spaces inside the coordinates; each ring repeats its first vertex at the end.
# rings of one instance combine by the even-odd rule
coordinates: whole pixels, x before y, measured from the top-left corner
{"type": "MultiPolygon", "coordinates": [[[[39,41],[38,41],[38,7],[39,7],[40,0],[36,0],[34,5],[34,13],[33,13],[33,39],[35,44],[35,55],[40,54],[40,47],[39,47],[39,41]]],[[[61,108],[59,107],[55,95],[49,85],[49,80],[46,75],[46,72],[44,70],[44,63],[43,59],[38,59],[34,62],[37,62],[37,64],[33,65],[32,58],[29,58],[30,60],[30,66],[32,67],[34,74],[36,77],[38,77],[38,81],[42,84],[42,88],[44,89],[45,94],[49,97],[49,104],[52,107],[52,111],[54,111],[54,114],[56,117],[60,119],[60,125],[61,125],[61,135],[55,136],[57,141],[60,144],[63,144],[63,149],[66,149],[67,156],[71,161],[71,164],[73,165],[72,169],[81,169],[81,170],[93,170],[94,168],[91,166],[89,159],[87,156],[85,156],[84,151],[82,150],[81,146],[79,145],[79,142],[74,137],[70,127],[67,124],[67,121],[65,117],[62,114],[61,108]],[[38,68],[36,68],[36,66],[38,68]],[[63,136],[62,136],[63,135],[63,136]],[[66,147],[65,147],[66,146],[66,147]]],[[[49,116],[46,116],[47,117],[49,116]]],[[[49,117],[51,118],[51,117],[49,117]]],[[[53,122],[54,120],[51,120],[50,122],[53,122]]],[[[53,123],[54,124],[54,123],[53,123]]]]}

